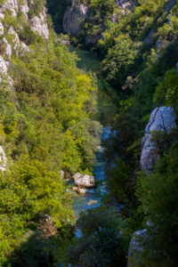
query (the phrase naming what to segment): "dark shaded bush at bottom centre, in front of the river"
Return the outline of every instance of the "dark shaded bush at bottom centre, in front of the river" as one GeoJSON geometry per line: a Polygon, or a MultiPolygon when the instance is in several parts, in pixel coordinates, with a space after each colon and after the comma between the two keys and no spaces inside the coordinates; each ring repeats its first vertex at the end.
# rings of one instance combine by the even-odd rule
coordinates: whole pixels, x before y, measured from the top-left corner
{"type": "Polygon", "coordinates": [[[69,248],[69,260],[82,266],[125,266],[126,240],[116,214],[91,210],[78,220],[83,236],[69,248]]]}

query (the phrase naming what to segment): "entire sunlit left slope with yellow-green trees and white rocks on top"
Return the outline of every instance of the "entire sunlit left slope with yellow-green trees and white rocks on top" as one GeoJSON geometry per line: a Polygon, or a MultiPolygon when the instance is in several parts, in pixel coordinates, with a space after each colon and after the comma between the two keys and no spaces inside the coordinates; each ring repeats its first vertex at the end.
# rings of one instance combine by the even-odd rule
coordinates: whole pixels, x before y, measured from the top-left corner
{"type": "Polygon", "coordinates": [[[90,173],[97,147],[95,82],[50,25],[44,1],[0,2],[0,265],[58,261],[74,224],[61,169],[90,173]]]}

